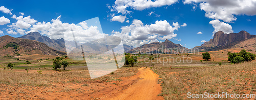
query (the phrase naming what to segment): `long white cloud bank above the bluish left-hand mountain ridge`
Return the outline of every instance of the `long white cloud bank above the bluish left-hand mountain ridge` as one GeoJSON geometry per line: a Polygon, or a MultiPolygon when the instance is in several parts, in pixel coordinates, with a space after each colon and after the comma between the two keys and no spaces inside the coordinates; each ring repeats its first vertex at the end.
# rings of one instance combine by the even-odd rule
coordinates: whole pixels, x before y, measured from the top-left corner
{"type": "Polygon", "coordinates": [[[73,41],[73,32],[76,40],[81,43],[90,42],[107,36],[106,34],[100,33],[97,26],[88,26],[86,21],[82,21],[78,24],[69,24],[62,23],[60,18],[61,16],[52,19],[51,22],[37,22],[31,27],[31,31],[39,31],[40,34],[47,35],[51,39],[59,39],[66,36],[65,40],[68,41],[73,41]]]}

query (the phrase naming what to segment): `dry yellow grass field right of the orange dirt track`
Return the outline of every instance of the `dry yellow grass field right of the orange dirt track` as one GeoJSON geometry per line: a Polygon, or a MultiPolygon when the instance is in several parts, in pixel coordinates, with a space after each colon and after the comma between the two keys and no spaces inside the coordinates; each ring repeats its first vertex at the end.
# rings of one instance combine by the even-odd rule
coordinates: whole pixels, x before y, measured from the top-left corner
{"type": "Polygon", "coordinates": [[[169,69],[155,67],[162,78],[165,99],[188,99],[187,93],[239,93],[256,92],[256,62],[211,66],[204,68],[169,69]]]}

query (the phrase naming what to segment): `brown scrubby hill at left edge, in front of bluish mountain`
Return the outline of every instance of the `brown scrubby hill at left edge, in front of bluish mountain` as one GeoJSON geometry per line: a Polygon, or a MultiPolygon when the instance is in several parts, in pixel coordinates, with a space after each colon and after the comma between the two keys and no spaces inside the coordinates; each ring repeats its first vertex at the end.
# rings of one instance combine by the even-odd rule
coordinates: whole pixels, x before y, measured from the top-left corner
{"type": "Polygon", "coordinates": [[[0,54],[9,56],[31,54],[66,55],[65,52],[54,50],[44,43],[28,39],[13,38],[10,36],[0,37],[0,54]]]}

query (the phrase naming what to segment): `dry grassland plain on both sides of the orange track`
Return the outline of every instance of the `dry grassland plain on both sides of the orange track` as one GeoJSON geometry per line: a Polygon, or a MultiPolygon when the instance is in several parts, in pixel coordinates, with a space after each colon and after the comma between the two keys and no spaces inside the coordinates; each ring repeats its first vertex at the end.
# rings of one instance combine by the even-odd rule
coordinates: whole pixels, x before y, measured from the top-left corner
{"type": "Polygon", "coordinates": [[[55,56],[31,59],[24,64],[15,58],[0,57],[0,98],[14,99],[99,99],[124,90],[136,80],[127,80],[136,75],[138,68],[151,68],[161,78],[161,93],[164,99],[188,99],[187,93],[239,93],[256,92],[256,61],[230,64],[227,52],[239,52],[237,49],[211,51],[211,60],[200,61],[201,53],[138,55],[134,67],[127,66],[96,78],[90,79],[83,61],[64,59],[70,63],[68,71],[52,71],[51,64],[55,56]],[[148,58],[154,57],[150,61],[148,58]],[[48,59],[49,58],[49,59],[48,59]],[[176,59],[190,59],[176,61],[176,59]],[[42,60],[41,60],[42,59],[42,60]],[[175,60],[173,60],[175,59],[175,60]],[[13,70],[4,70],[7,63],[15,63],[13,70]],[[219,65],[219,63],[222,65],[219,65]],[[79,66],[79,67],[77,67],[79,66]],[[33,69],[26,72],[26,68],[33,69]],[[37,71],[41,71],[40,73],[37,71]],[[85,96],[88,95],[88,96],[85,96]],[[83,98],[82,98],[83,97],[83,98]]]}

